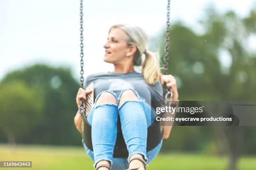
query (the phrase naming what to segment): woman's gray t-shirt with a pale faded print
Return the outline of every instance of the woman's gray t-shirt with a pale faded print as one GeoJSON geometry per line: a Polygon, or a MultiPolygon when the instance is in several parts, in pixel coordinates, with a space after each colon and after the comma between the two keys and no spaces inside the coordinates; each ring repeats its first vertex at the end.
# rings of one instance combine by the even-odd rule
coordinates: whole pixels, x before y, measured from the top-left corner
{"type": "MultiPolygon", "coordinates": [[[[154,85],[146,83],[143,75],[133,71],[128,73],[96,73],[86,78],[85,87],[91,82],[94,83],[94,97],[100,92],[110,90],[118,96],[122,90],[133,87],[141,98],[151,105],[151,101],[162,101],[163,91],[160,80],[154,85]]],[[[152,103],[153,104],[153,103],[152,103]]],[[[155,108],[154,105],[152,105],[155,108]]]]}

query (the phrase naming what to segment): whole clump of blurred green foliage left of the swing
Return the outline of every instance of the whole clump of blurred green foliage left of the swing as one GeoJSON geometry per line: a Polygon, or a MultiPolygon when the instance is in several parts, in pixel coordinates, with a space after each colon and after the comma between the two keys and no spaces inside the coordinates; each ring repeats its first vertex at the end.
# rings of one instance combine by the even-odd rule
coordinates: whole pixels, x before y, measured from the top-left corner
{"type": "MultiPolygon", "coordinates": [[[[0,82],[0,87],[2,86],[6,86],[5,89],[1,88],[4,92],[0,93],[1,117],[5,117],[3,122],[9,119],[8,127],[19,129],[28,126],[29,129],[26,133],[15,137],[16,142],[53,145],[81,143],[80,135],[74,127],[74,112],[77,110],[75,97],[79,84],[74,80],[69,69],[33,65],[7,74],[0,82]],[[23,86],[17,88],[20,82],[23,82],[23,86]],[[33,96],[30,96],[29,92],[33,92],[33,96]],[[17,93],[20,98],[14,97],[17,93]],[[10,99],[6,100],[6,96],[10,96],[10,99]],[[24,100],[24,98],[30,100],[24,100]],[[40,109],[34,108],[42,104],[40,109]],[[2,110],[4,106],[10,109],[2,110]],[[24,107],[23,112],[20,112],[20,106],[24,107]],[[16,110],[11,108],[16,108],[16,110]],[[40,112],[41,117],[33,126],[30,126],[29,123],[36,120],[35,110],[40,112]],[[16,117],[10,117],[10,115],[16,115],[16,117]],[[16,123],[21,118],[23,118],[23,123],[16,123]]],[[[2,133],[3,129],[8,128],[5,124],[1,124],[2,133]]],[[[2,134],[2,136],[5,135],[2,134]]],[[[6,142],[7,138],[0,140],[6,142]]]]}

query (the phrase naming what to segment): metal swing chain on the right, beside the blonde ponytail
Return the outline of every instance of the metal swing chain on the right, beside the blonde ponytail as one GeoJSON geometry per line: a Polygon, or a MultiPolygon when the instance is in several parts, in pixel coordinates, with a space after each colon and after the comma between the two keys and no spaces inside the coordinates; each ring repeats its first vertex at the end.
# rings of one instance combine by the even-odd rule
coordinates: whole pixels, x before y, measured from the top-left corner
{"type": "MultiPolygon", "coordinates": [[[[164,75],[168,74],[168,52],[169,52],[169,26],[170,26],[170,1],[168,0],[167,4],[167,28],[165,34],[165,49],[164,49],[164,75]]],[[[172,99],[172,90],[167,89],[166,85],[164,84],[163,90],[163,98],[164,100],[171,100],[172,99]]]]}

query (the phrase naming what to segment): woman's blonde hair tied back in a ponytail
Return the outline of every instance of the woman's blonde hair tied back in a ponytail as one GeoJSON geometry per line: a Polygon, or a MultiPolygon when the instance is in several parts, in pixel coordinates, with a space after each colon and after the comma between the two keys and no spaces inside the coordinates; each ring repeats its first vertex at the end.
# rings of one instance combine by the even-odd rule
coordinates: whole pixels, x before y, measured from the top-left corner
{"type": "Polygon", "coordinates": [[[141,74],[148,84],[155,84],[159,80],[159,56],[156,53],[150,52],[147,49],[148,37],[144,30],[132,25],[113,25],[109,32],[114,28],[122,29],[127,35],[128,46],[135,45],[137,47],[133,57],[133,65],[142,65],[141,74]],[[142,54],[145,54],[145,60],[142,63],[142,54]]]}

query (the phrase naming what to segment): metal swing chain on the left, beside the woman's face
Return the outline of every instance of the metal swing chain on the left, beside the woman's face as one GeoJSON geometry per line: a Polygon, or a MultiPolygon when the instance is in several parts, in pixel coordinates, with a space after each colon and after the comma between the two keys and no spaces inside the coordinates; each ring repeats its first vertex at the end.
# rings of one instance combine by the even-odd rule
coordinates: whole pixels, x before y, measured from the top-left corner
{"type": "MultiPolygon", "coordinates": [[[[84,60],[83,60],[83,57],[84,57],[84,43],[83,43],[83,40],[84,40],[84,35],[83,35],[83,0],[80,0],[80,66],[81,66],[81,70],[80,70],[80,83],[81,83],[81,88],[84,88],[84,77],[83,77],[83,74],[84,74],[84,70],[83,70],[83,67],[84,67],[84,60]]],[[[82,98],[81,100],[81,103],[79,105],[79,113],[82,114],[83,116],[85,115],[85,105],[84,105],[84,99],[82,98]]]]}

